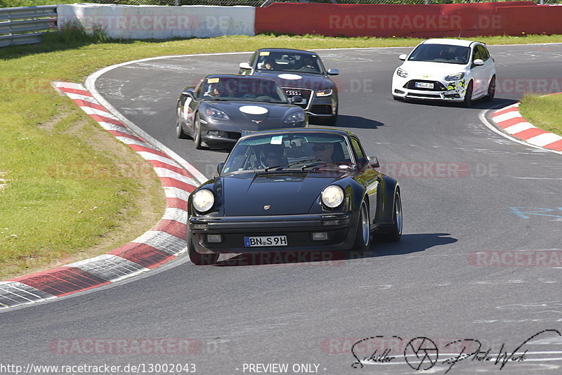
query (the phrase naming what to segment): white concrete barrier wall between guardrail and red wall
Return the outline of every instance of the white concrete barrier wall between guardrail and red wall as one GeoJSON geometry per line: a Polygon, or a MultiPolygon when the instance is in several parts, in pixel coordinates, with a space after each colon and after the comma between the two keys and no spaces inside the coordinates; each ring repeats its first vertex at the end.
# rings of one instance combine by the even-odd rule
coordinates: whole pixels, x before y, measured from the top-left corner
{"type": "Polygon", "coordinates": [[[79,22],[87,32],[96,27],[115,39],[211,38],[254,35],[251,6],[124,6],[59,4],[59,30],[79,22]]]}

